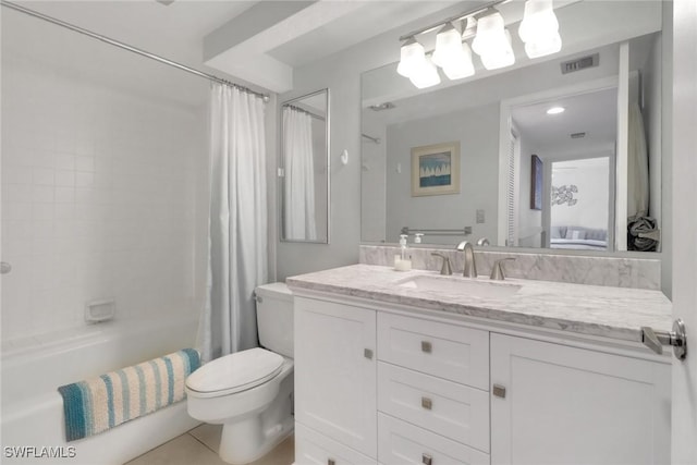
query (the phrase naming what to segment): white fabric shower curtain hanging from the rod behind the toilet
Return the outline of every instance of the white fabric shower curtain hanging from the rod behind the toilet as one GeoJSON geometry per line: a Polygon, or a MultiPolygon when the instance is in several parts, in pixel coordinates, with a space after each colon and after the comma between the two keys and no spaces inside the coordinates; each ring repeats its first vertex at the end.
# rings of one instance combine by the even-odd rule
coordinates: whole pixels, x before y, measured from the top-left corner
{"type": "Polygon", "coordinates": [[[204,362],[258,345],[254,289],[268,278],[264,110],[261,97],[212,84],[204,362]]]}

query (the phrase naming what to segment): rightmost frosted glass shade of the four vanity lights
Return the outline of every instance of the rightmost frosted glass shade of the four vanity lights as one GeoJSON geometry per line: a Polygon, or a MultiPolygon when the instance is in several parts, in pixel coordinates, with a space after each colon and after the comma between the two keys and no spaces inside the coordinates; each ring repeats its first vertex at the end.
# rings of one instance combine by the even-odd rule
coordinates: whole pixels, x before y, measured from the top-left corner
{"type": "Polygon", "coordinates": [[[552,0],[527,0],[518,35],[529,58],[545,57],[562,49],[559,21],[552,0]]]}

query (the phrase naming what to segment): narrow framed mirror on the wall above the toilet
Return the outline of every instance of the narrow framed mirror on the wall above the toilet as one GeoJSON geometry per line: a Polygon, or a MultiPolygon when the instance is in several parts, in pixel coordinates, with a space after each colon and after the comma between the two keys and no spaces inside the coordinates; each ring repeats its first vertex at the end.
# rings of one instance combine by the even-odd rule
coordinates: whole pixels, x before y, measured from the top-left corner
{"type": "Polygon", "coordinates": [[[329,89],[281,105],[281,241],[329,243],[329,89]]]}

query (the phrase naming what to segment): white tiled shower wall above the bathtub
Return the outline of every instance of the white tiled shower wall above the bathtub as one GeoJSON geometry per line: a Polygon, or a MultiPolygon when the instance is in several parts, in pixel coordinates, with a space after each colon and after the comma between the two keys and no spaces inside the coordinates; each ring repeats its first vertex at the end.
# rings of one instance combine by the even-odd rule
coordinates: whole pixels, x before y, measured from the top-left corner
{"type": "Polygon", "coordinates": [[[199,311],[204,121],[3,47],[3,340],[85,326],[96,299],[119,319],[199,311]]]}

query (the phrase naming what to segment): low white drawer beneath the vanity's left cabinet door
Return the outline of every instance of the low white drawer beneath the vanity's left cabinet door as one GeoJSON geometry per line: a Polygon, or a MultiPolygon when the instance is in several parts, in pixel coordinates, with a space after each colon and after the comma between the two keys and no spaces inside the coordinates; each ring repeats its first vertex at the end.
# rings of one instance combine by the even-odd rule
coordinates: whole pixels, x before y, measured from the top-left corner
{"type": "Polygon", "coordinates": [[[296,465],[372,465],[376,461],[295,423],[296,465]]]}

